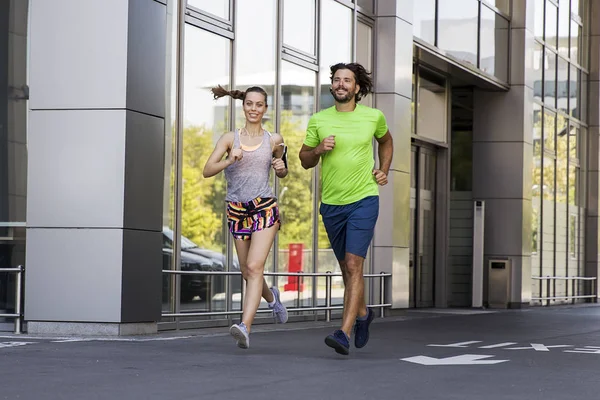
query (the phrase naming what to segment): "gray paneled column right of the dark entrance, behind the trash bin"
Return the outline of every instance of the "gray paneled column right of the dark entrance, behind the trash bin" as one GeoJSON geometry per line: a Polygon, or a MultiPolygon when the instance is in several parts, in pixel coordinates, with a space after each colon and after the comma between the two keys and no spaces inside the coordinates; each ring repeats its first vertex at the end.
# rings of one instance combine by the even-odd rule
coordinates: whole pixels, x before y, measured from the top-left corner
{"type": "Polygon", "coordinates": [[[534,36],[527,4],[512,2],[510,91],[475,90],[473,112],[473,197],[486,203],[486,267],[490,257],[512,261],[512,307],[531,299],[534,36]]]}

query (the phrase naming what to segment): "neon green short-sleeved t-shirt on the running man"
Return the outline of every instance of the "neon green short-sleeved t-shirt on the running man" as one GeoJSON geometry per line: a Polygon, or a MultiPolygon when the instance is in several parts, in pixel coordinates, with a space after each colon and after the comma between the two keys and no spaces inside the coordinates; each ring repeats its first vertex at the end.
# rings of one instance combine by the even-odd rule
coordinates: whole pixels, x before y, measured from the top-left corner
{"type": "Polygon", "coordinates": [[[379,194],[373,177],[373,136],[380,138],[387,131],[383,113],[360,104],[351,112],[338,112],[333,106],[310,118],[305,145],[317,147],[335,135],[333,150],[321,157],[323,203],[346,205],[379,194]]]}

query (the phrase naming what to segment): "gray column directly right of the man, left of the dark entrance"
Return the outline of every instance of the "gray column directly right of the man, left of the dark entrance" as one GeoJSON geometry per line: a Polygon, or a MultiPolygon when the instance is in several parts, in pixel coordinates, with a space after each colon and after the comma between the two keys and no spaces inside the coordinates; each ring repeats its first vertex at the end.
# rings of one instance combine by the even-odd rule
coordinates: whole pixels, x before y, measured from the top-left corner
{"type": "Polygon", "coordinates": [[[380,189],[380,216],[373,242],[374,271],[393,274],[392,308],[409,303],[410,123],[413,0],[378,0],[375,105],[394,137],[388,185],[380,189]]]}

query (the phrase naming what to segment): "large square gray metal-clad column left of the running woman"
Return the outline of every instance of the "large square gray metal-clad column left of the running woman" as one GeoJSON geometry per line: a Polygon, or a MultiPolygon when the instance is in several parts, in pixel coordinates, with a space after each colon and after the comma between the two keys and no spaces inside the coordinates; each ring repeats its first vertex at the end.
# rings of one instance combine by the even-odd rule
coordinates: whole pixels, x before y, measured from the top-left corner
{"type": "Polygon", "coordinates": [[[155,332],[166,6],[30,5],[28,331],[155,332]]]}

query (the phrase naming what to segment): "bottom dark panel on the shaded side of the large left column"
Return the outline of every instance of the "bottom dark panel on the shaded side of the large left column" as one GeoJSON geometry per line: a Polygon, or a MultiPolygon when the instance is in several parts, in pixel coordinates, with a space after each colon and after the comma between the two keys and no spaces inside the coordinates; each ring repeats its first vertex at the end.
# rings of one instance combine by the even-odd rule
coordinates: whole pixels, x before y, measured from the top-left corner
{"type": "Polygon", "coordinates": [[[123,230],[121,321],[160,320],[162,232],[123,230]]]}

